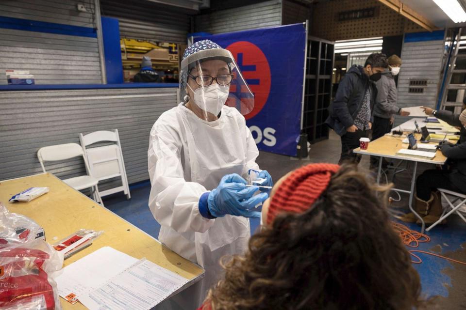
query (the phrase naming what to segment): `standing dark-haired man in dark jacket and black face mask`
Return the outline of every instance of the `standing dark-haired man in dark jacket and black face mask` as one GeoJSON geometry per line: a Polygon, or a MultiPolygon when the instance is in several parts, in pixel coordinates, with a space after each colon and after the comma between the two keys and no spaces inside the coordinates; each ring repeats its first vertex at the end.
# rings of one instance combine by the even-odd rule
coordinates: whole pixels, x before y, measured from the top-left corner
{"type": "Polygon", "coordinates": [[[372,109],[377,97],[374,82],[382,77],[387,67],[384,54],[370,54],[364,67],[352,65],[338,85],[325,123],[341,137],[339,164],[361,160],[353,149],[359,146],[359,139],[368,137],[367,131],[372,128],[372,109]]]}

